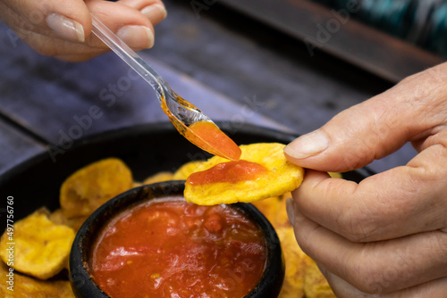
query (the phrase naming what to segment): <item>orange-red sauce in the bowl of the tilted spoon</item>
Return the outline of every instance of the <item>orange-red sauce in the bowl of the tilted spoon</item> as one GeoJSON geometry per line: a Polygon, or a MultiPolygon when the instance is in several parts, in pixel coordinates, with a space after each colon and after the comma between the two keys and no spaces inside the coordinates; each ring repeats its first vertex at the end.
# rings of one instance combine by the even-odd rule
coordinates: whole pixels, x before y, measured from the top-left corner
{"type": "Polygon", "coordinates": [[[198,121],[192,123],[189,128],[205,141],[205,144],[200,146],[205,151],[232,161],[240,159],[240,147],[213,122],[198,121]]]}

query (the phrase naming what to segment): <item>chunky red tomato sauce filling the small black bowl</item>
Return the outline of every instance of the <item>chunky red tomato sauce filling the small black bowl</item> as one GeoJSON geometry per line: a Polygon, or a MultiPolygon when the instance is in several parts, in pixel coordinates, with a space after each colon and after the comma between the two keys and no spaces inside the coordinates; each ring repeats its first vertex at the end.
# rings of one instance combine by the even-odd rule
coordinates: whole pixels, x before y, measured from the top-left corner
{"type": "Polygon", "coordinates": [[[227,205],[183,198],[123,211],[97,236],[92,276],[112,297],[244,297],[265,269],[263,232],[227,205]]]}

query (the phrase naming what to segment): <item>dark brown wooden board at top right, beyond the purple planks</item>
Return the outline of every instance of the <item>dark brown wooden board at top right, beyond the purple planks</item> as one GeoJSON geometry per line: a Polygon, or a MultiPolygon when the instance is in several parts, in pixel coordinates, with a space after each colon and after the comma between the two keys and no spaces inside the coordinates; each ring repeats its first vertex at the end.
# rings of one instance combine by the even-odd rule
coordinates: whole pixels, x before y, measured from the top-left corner
{"type": "Polygon", "coordinates": [[[353,20],[351,14],[358,10],[354,5],[335,12],[307,0],[220,0],[219,3],[303,40],[310,56],[317,54],[318,49],[323,50],[392,82],[445,61],[353,20]]]}

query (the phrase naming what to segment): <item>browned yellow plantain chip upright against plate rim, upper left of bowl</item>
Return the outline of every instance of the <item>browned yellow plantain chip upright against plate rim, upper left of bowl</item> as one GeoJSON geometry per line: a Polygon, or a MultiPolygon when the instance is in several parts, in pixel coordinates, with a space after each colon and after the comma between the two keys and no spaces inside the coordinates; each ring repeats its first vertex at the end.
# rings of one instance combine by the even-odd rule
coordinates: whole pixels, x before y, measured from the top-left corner
{"type": "Polygon", "coordinates": [[[66,217],[89,216],[115,195],[133,186],[131,170],[108,158],[77,170],[61,186],[60,204],[66,217]]]}

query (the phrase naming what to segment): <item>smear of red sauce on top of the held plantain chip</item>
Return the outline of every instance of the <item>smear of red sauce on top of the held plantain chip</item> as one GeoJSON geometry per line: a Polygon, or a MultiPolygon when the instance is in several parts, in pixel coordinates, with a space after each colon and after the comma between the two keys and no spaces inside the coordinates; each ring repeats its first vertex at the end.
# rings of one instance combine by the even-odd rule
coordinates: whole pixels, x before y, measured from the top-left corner
{"type": "Polygon", "coordinates": [[[256,180],[268,170],[262,164],[252,161],[228,161],[216,164],[214,167],[192,173],[187,179],[191,185],[205,185],[217,182],[236,183],[256,180]]]}

